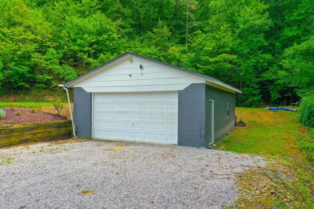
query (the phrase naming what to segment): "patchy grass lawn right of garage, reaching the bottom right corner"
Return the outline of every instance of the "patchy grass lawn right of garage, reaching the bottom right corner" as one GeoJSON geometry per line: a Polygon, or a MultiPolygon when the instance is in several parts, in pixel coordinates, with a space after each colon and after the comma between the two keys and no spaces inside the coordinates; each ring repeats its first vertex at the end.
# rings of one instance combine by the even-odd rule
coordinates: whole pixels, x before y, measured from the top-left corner
{"type": "Polygon", "coordinates": [[[291,180],[278,184],[259,176],[238,181],[241,195],[237,207],[314,209],[314,163],[306,158],[314,154],[301,149],[301,142],[313,136],[299,123],[297,112],[236,108],[236,116],[246,126],[236,127],[215,149],[262,155],[270,168],[282,170],[291,180]]]}

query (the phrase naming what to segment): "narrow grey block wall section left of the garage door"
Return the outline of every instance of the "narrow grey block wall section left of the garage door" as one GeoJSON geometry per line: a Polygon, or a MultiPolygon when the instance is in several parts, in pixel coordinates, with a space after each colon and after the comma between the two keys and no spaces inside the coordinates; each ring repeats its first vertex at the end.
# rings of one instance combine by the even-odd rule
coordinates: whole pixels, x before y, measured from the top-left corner
{"type": "Polygon", "coordinates": [[[74,123],[78,137],[92,137],[92,93],[74,88],[74,123]]]}

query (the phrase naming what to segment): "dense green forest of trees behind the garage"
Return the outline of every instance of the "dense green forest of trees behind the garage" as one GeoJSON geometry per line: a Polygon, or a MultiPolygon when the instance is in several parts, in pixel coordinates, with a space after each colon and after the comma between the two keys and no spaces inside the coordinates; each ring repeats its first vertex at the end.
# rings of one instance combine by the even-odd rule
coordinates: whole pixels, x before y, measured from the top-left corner
{"type": "Polygon", "coordinates": [[[200,72],[239,106],[314,93],[313,0],[1,0],[0,95],[57,89],[118,55],[200,72]]]}

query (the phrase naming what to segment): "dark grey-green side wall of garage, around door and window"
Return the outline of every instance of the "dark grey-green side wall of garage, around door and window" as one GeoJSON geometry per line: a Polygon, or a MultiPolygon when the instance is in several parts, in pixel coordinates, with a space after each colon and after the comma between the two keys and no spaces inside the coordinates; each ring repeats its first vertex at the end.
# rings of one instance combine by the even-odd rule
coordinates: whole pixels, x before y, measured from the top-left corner
{"type": "Polygon", "coordinates": [[[211,86],[206,86],[206,137],[205,146],[211,142],[210,114],[214,101],[214,141],[217,142],[235,128],[235,93],[226,92],[211,86]],[[229,102],[229,117],[227,117],[227,102],[229,102]]]}

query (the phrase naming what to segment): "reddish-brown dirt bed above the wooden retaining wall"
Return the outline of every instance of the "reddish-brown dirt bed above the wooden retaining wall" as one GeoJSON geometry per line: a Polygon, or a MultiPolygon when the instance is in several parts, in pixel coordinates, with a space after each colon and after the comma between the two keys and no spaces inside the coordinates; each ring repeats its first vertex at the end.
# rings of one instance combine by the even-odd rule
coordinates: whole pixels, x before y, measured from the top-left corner
{"type": "Polygon", "coordinates": [[[3,109],[6,115],[3,119],[0,119],[0,125],[18,125],[70,119],[68,106],[62,108],[60,115],[55,112],[54,107],[36,109],[11,107],[3,109]]]}

